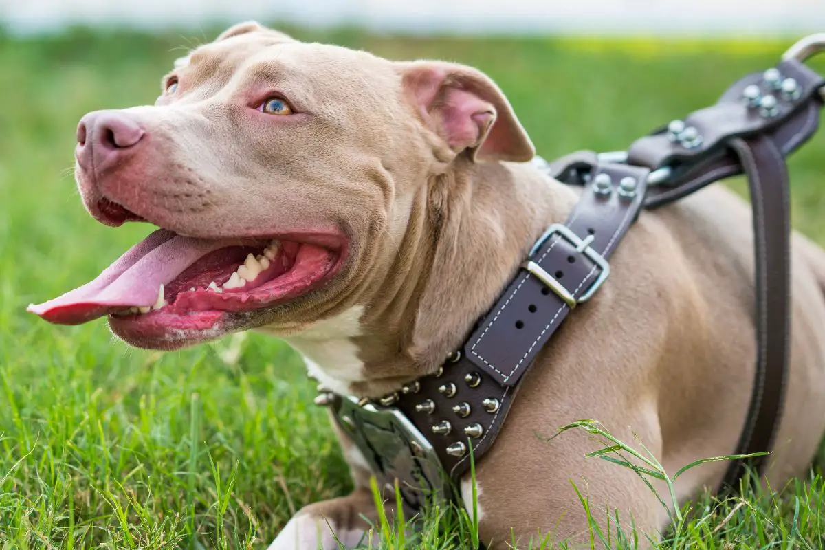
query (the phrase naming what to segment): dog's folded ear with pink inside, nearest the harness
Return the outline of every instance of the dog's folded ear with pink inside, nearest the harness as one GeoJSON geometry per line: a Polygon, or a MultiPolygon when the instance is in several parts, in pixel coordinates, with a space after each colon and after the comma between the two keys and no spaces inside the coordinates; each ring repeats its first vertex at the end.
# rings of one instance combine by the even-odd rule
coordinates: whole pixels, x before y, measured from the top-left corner
{"type": "Polygon", "coordinates": [[[478,161],[529,161],[535,148],[487,75],[456,63],[403,64],[403,90],[427,128],[478,161]]]}

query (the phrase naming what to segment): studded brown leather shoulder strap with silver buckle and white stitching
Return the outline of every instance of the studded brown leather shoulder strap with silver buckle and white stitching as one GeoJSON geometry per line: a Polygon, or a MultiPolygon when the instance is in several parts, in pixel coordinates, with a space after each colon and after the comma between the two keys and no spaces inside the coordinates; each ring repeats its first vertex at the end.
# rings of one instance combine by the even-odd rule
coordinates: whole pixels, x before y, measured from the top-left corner
{"type": "MultiPolygon", "coordinates": [[[[530,261],[574,299],[586,297],[609,272],[593,258],[609,258],[639,215],[648,173],[624,164],[597,166],[564,228],[545,235],[530,261]],[[582,247],[584,239],[590,239],[589,246],[582,247]]],[[[534,273],[540,271],[516,274],[455,362],[398,397],[398,407],[431,438],[451,477],[469,468],[468,440],[476,457],[493,443],[521,377],[571,311],[571,304],[541,280],[546,276],[534,273]]]]}

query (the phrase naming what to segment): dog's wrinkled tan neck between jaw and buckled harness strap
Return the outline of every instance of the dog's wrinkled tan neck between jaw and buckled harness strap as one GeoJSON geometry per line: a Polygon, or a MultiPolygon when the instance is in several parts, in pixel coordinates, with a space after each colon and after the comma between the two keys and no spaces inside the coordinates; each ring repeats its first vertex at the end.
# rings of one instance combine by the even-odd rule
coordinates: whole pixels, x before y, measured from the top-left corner
{"type": "Polygon", "coordinates": [[[529,163],[455,166],[404,207],[406,232],[384,240],[359,305],[287,339],[333,391],[375,397],[434,372],[576,200],[529,163]]]}

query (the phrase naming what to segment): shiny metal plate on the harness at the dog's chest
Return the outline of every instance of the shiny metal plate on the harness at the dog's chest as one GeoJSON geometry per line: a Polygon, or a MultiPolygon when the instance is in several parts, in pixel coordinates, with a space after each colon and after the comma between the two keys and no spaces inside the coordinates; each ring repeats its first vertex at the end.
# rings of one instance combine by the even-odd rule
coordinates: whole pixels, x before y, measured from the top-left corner
{"type": "Polygon", "coordinates": [[[402,411],[340,395],[335,395],[330,409],[337,425],[364,455],[379,487],[394,491],[398,480],[410,512],[421,510],[433,494],[450,498],[450,484],[436,449],[402,411]]]}

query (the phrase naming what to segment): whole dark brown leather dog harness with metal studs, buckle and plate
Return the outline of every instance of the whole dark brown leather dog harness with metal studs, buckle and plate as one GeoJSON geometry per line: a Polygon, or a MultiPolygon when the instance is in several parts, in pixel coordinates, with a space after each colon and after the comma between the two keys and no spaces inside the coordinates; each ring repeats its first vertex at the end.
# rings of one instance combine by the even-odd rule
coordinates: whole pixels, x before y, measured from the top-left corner
{"type": "MultiPolygon", "coordinates": [[[[549,176],[581,186],[563,224],[548,228],[460,350],[433,376],[372,401],[325,390],[338,425],[380,482],[398,480],[405,504],[432,491],[450,497],[450,480],[496,440],[522,377],[573,309],[610,275],[610,255],[643,209],[744,173],[755,234],[757,369],[736,454],[770,451],[779,425],[790,341],[790,209],[785,157],[818,128],[825,79],[803,63],[825,49],[825,35],[794,45],[775,68],[748,75],[714,106],[634,142],[628,151],[573,153],[547,164],[549,176]],[[422,491],[423,489],[423,491],[422,491]]],[[[761,472],[764,457],[751,465],[761,472]]],[[[745,461],[730,464],[734,487],[745,461]]]]}

